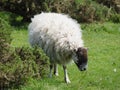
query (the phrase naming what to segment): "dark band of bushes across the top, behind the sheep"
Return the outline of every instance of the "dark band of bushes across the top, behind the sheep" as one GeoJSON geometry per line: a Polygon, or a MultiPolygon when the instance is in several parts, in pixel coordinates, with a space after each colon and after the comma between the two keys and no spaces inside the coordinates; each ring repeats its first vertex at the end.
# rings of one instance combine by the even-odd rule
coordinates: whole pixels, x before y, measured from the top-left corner
{"type": "MultiPolygon", "coordinates": [[[[30,21],[31,17],[41,12],[69,14],[78,22],[109,20],[111,13],[115,14],[114,9],[97,2],[102,3],[99,0],[3,0],[0,5],[4,10],[22,16],[25,21],[30,21]]],[[[109,2],[112,3],[113,0],[109,2]]]]}

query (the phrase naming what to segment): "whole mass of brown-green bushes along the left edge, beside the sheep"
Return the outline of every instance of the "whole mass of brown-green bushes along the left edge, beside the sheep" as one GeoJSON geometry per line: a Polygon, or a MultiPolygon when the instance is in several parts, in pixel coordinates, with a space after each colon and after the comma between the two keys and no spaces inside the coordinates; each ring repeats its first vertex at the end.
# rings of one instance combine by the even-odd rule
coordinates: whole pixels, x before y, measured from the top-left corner
{"type": "Polygon", "coordinates": [[[29,78],[41,79],[47,73],[49,58],[40,48],[11,47],[12,28],[0,18],[0,89],[26,84],[29,78]]]}

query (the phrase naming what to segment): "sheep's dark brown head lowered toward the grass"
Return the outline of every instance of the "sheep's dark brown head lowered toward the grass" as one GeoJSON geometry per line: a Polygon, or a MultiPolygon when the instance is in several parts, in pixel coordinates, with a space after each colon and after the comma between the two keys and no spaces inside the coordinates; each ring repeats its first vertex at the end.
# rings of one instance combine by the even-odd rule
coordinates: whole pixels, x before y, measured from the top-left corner
{"type": "Polygon", "coordinates": [[[85,71],[87,69],[87,48],[80,47],[77,50],[74,50],[73,60],[78,66],[80,71],[85,71]]]}

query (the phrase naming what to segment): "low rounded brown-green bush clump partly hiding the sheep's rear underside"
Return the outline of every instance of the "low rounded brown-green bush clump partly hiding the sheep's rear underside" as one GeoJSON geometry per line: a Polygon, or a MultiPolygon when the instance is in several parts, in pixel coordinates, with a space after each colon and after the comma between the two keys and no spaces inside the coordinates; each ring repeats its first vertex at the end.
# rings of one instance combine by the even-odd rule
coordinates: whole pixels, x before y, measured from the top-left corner
{"type": "Polygon", "coordinates": [[[0,62],[0,87],[18,87],[27,83],[29,78],[44,77],[49,62],[48,58],[38,51],[38,48],[16,48],[7,58],[9,61],[0,62]]]}

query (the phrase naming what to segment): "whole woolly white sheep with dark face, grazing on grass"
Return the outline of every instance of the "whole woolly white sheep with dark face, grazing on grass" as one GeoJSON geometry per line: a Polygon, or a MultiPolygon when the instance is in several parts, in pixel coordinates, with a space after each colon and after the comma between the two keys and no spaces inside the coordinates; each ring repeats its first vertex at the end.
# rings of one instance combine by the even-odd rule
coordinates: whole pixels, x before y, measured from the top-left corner
{"type": "Polygon", "coordinates": [[[80,71],[87,69],[87,48],[83,45],[82,30],[76,20],[70,16],[58,13],[41,13],[31,19],[28,26],[31,46],[38,45],[50,58],[50,73],[52,69],[58,76],[58,66],[63,66],[64,79],[70,83],[66,65],[72,60],[80,71]]]}

